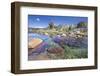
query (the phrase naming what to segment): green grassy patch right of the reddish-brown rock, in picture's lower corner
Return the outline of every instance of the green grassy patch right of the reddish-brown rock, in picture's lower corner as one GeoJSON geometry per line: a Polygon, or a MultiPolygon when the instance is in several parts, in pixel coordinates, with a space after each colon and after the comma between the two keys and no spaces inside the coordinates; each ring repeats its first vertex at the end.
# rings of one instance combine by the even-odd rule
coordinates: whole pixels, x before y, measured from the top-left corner
{"type": "Polygon", "coordinates": [[[69,47],[64,45],[64,59],[87,58],[87,48],[69,47]]]}

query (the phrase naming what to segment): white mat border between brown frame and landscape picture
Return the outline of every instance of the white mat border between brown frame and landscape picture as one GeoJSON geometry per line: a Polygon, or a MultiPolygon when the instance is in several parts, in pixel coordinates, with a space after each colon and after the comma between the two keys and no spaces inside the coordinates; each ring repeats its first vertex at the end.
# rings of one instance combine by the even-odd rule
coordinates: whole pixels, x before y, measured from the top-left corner
{"type": "Polygon", "coordinates": [[[20,41],[20,69],[22,70],[75,67],[75,66],[78,67],[78,66],[90,66],[90,65],[92,66],[94,65],[94,11],[23,6],[20,8],[20,40],[21,40],[20,41]],[[27,15],[28,14],[88,17],[88,58],[28,61],[28,47],[27,47],[28,44],[27,15]]]}

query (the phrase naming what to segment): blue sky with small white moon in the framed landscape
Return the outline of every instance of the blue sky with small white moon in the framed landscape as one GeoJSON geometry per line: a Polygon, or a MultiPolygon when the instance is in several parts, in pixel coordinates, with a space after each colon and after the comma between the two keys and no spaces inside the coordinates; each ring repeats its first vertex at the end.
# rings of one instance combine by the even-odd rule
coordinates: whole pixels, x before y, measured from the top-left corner
{"type": "Polygon", "coordinates": [[[59,25],[77,24],[81,21],[88,22],[88,18],[74,16],[28,15],[28,27],[31,28],[45,28],[50,22],[54,22],[56,25],[59,25]]]}

